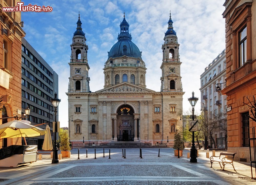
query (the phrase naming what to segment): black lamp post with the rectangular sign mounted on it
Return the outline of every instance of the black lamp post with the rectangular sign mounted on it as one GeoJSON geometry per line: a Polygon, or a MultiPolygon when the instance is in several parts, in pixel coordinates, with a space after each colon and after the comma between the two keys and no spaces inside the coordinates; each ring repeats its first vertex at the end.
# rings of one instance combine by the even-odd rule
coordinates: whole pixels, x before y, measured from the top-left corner
{"type": "MultiPolygon", "coordinates": [[[[190,105],[192,106],[192,120],[194,121],[194,111],[195,111],[195,105],[198,101],[198,98],[194,96],[194,91],[192,92],[192,97],[188,98],[188,101],[190,105]]],[[[194,131],[192,131],[192,146],[190,149],[190,163],[197,163],[197,149],[195,147],[195,134],[194,131]]]]}

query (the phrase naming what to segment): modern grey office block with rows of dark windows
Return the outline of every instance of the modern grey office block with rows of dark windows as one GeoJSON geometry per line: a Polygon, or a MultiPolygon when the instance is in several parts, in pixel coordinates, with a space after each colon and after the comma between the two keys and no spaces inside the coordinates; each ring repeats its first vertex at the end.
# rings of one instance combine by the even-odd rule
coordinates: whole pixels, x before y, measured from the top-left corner
{"type": "MultiPolygon", "coordinates": [[[[27,118],[31,125],[39,125],[40,128],[50,126],[51,136],[52,122],[54,121],[53,107],[50,102],[54,93],[58,94],[58,75],[36,50],[22,38],[22,115],[25,108],[30,108],[27,118]]],[[[38,145],[41,149],[44,135],[26,138],[27,144],[38,145]]],[[[23,141],[24,142],[24,141],[23,141]]]]}

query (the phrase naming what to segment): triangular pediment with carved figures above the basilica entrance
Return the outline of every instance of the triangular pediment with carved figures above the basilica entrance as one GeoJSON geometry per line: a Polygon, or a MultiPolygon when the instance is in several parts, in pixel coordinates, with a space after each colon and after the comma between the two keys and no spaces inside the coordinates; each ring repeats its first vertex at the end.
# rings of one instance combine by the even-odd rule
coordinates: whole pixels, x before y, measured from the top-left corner
{"type": "Polygon", "coordinates": [[[141,87],[139,85],[134,85],[132,83],[128,82],[122,82],[116,85],[112,85],[110,87],[107,87],[105,89],[101,89],[99,91],[96,91],[96,93],[105,93],[105,92],[116,92],[116,93],[134,93],[134,92],[155,92],[151,89],[147,89],[144,87],[141,87]]]}

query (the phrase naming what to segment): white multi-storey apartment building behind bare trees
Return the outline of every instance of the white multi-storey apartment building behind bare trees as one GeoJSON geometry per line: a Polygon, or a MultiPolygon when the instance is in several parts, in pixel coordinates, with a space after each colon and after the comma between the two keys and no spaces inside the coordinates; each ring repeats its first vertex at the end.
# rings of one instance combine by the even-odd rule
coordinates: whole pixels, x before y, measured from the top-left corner
{"type": "MultiPolygon", "coordinates": [[[[202,110],[205,107],[206,118],[209,120],[213,115],[220,113],[226,113],[227,110],[227,96],[222,95],[220,90],[225,87],[226,78],[226,49],[223,50],[206,68],[205,71],[200,75],[201,88],[201,104],[202,110]],[[219,87],[216,89],[216,87],[219,87]]],[[[224,115],[225,116],[225,115],[224,115]]],[[[224,120],[227,117],[223,118],[224,120]]],[[[207,119],[206,119],[207,120],[207,119]]],[[[213,120],[213,118],[212,118],[213,120]]],[[[226,121],[225,121],[226,122],[226,121]]],[[[226,124],[224,122],[224,124],[226,124]]],[[[225,131],[221,129],[208,128],[207,138],[208,146],[216,148],[225,147],[225,131]],[[212,137],[211,137],[212,136],[212,137]],[[214,142],[216,146],[214,146],[214,142]]]]}

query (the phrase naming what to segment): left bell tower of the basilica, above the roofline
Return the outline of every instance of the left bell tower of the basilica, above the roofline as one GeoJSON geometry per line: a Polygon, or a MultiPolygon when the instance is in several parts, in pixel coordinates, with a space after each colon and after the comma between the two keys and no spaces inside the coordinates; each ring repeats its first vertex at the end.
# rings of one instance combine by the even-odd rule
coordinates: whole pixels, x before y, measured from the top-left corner
{"type": "Polygon", "coordinates": [[[89,64],[87,60],[88,45],[86,45],[85,34],[82,31],[80,14],[77,21],[77,29],[72,38],[70,56],[70,77],[68,92],[89,92],[89,64]]]}

